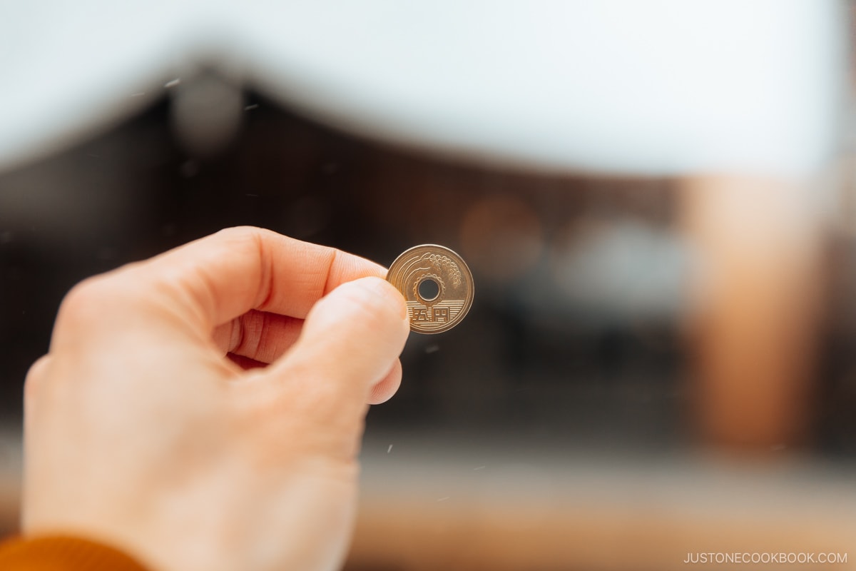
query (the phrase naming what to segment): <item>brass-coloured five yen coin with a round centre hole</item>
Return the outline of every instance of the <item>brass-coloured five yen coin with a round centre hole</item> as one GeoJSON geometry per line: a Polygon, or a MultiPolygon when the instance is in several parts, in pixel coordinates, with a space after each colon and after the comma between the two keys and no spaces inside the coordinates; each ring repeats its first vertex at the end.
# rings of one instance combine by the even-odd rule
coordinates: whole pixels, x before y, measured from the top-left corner
{"type": "Polygon", "coordinates": [[[389,266],[386,281],[407,300],[410,330],[417,333],[448,331],[473,305],[473,274],[448,247],[410,248],[389,266]]]}

